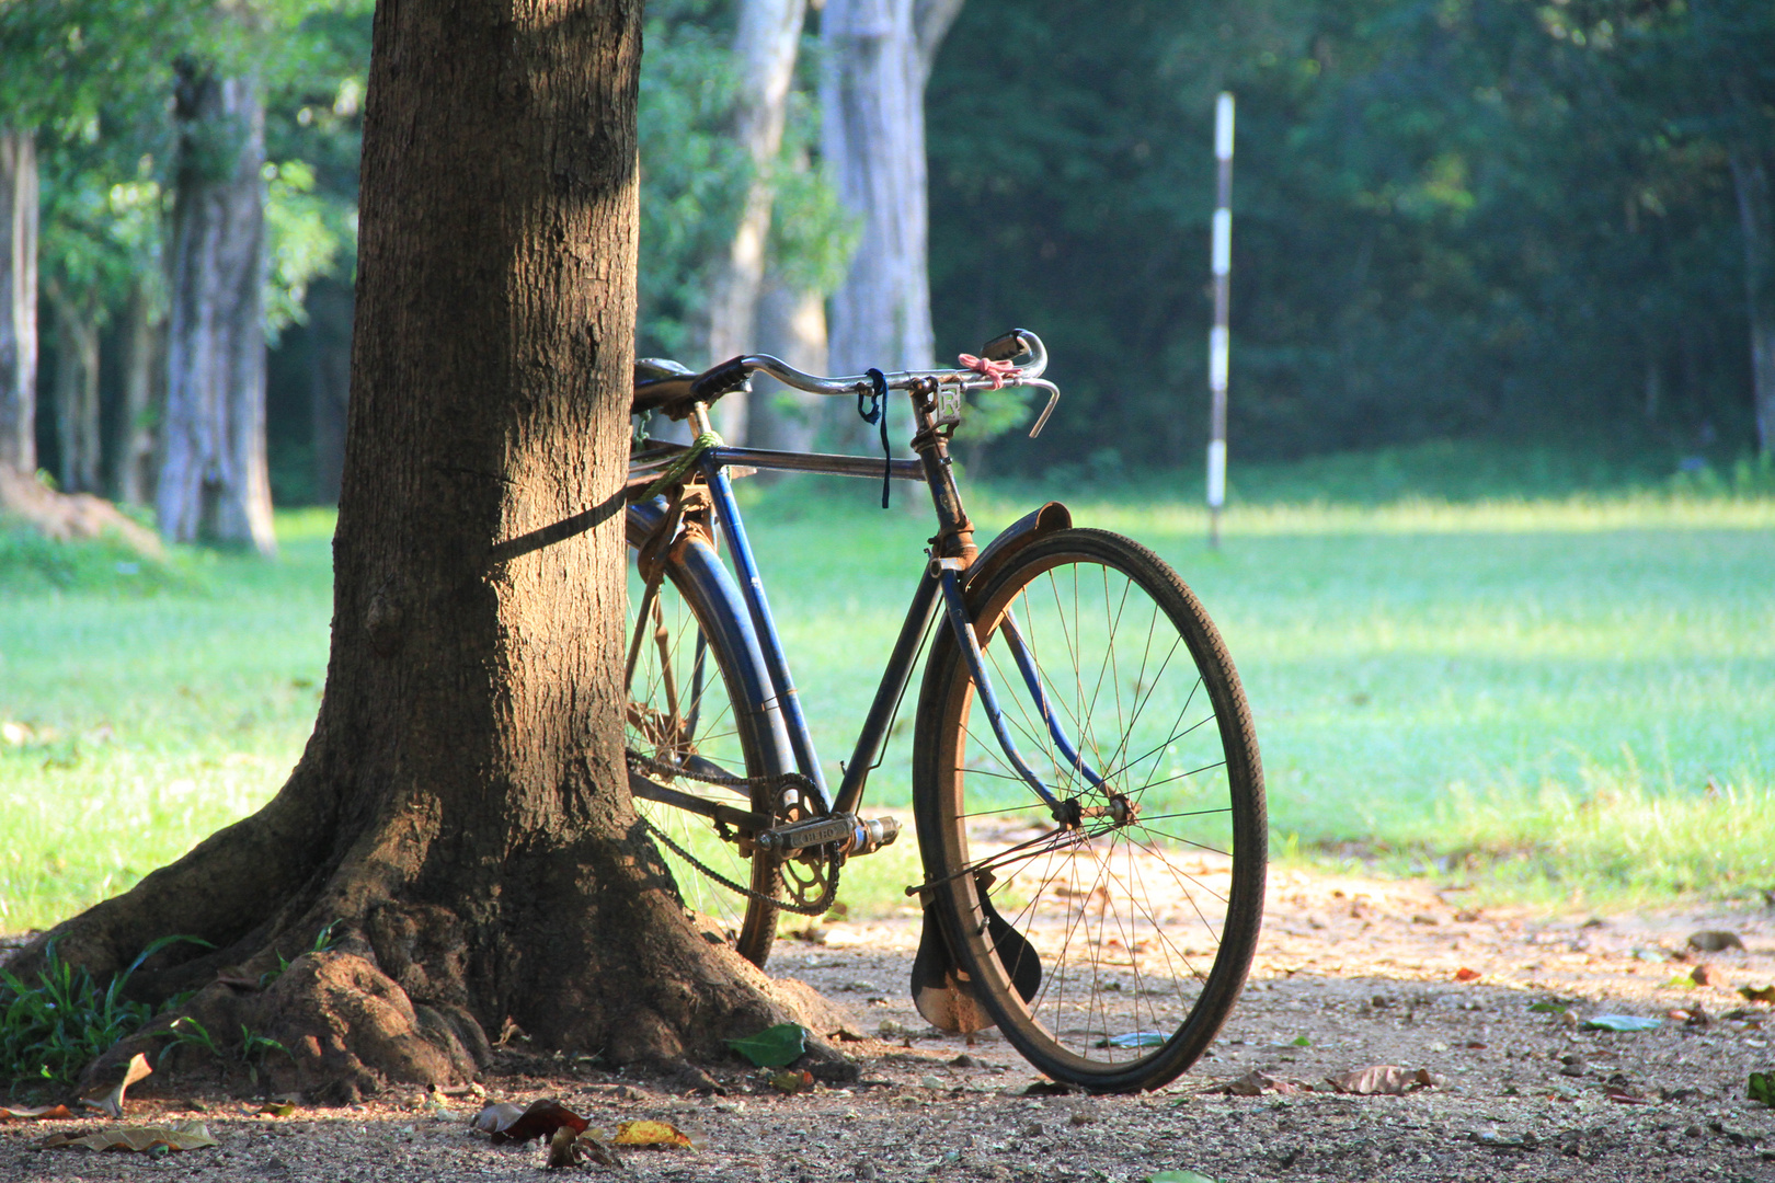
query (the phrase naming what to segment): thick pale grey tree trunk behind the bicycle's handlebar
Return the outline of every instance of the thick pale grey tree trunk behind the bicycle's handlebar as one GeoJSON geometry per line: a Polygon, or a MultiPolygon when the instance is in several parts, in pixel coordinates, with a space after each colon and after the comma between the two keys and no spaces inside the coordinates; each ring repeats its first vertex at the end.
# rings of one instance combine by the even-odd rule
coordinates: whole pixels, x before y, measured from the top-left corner
{"type": "MultiPolygon", "coordinates": [[[[825,160],[840,200],[863,225],[850,273],[832,294],[831,356],[841,374],[935,360],[925,82],[958,11],[960,0],[827,0],[822,14],[825,160]]],[[[868,443],[870,429],[850,431],[868,443]]]]}

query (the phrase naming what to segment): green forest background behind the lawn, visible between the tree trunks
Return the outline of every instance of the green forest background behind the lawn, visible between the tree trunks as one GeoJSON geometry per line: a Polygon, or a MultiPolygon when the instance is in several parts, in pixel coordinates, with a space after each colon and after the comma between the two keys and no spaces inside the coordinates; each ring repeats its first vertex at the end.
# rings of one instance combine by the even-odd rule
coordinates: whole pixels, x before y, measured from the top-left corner
{"type": "MultiPolygon", "coordinates": [[[[266,94],[272,488],[282,505],[328,502],[369,5],[282,0],[252,27],[170,2],[92,5],[87,43],[69,44],[78,7],[50,5],[69,9],[62,44],[16,28],[5,44],[39,66],[59,53],[71,74],[92,73],[82,55],[115,59],[37,131],[51,328],[39,466],[144,500],[126,474],[144,426],[130,355],[135,321],[165,303],[170,80],[179,60],[220,53],[266,94]],[[82,468],[57,411],[78,387],[69,355],[83,339],[96,342],[106,443],[82,468]]],[[[719,0],[655,0],[648,18],[641,353],[690,365],[710,360],[710,275],[751,177],[730,135],[733,20],[719,0]]],[[[777,275],[831,291],[856,227],[818,158],[818,20],[811,11],[799,59],[770,255],[777,275]]],[[[990,438],[1014,419],[990,417],[966,452],[976,474],[1070,465],[1115,481],[1198,463],[1221,89],[1239,98],[1235,490],[1239,459],[1424,442],[1551,465],[1571,484],[1727,472],[1768,450],[1752,364],[1761,332],[1763,385],[1775,383],[1766,5],[1136,2],[1104,20],[1069,0],[969,0],[927,90],[937,351],[1026,325],[1067,392],[1035,445],[990,438]]]]}

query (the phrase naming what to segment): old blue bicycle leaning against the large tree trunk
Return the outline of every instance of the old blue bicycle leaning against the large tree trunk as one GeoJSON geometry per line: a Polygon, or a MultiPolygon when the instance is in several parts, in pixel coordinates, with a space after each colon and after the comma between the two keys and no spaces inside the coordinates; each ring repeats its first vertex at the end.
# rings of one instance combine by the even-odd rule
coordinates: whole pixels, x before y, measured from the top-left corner
{"type": "MultiPolygon", "coordinates": [[[[964,369],[820,378],[772,356],[701,374],[639,362],[630,452],[630,791],[698,912],[756,965],[781,912],[824,915],[848,858],[895,841],[864,784],[928,647],[912,740],[925,912],[914,1002],[946,1030],[998,1025],[1040,1071],[1099,1093],[1189,1068],[1244,984],[1262,919],[1264,775],[1251,715],[1207,612],[1145,546],[1049,502],[974,544],[948,442],[964,396],[1030,387],[1047,351],[1014,330],[964,369]],[[708,408],[765,372],[912,406],[916,459],[728,447],[708,408]],[[831,796],[733,498],[735,468],[923,481],[937,534],[831,796]],[[724,541],[733,571],[717,544],[724,541]],[[735,578],[735,573],[738,578],[735,578]],[[1118,649],[1118,637],[1127,646],[1118,649]],[[982,718],[983,717],[983,718],[982,718]]],[[[868,404],[868,406],[866,406],[868,404]]]]}

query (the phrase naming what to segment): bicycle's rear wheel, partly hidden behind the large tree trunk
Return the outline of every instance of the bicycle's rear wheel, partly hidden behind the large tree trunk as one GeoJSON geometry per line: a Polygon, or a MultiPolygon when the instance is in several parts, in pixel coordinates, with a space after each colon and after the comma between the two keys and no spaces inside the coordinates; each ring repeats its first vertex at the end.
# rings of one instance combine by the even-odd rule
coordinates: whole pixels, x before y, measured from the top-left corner
{"type": "MultiPolygon", "coordinates": [[[[644,587],[634,557],[662,518],[662,502],[628,507],[630,605],[625,644],[635,635],[635,612],[641,608],[644,587]]],[[[770,777],[792,772],[795,763],[790,756],[788,733],[776,708],[776,697],[769,690],[770,678],[763,656],[751,630],[742,624],[747,619],[746,603],[715,550],[701,539],[692,539],[682,548],[680,557],[667,557],[655,603],[657,624],[664,624],[667,637],[664,644],[653,635],[644,637],[635,669],[628,674],[625,745],[680,766],[690,757],[689,763],[696,770],[721,775],[770,777]],[[698,683],[699,635],[705,658],[703,679],[698,683]],[[717,678],[706,676],[708,663],[714,663],[717,678]],[[667,686],[674,685],[664,678],[667,670],[674,681],[689,681],[692,688],[690,701],[678,702],[680,709],[673,709],[671,695],[666,693],[667,686]],[[680,674],[690,678],[680,679],[680,674]]],[[[662,780],[657,775],[653,779],[662,780]]],[[[772,814],[777,807],[767,787],[753,786],[742,793],[689,777],[662,782],[680,793],[726,805],[740,805],[744,796],[744,805],[753,812],[772,814]]],[[[699,814],[641,798],[634,803],[651,825],[730,880],[747,883],[753,892],[767,897],[781,896],[783,874],[777,858],[724,839],[717,827],[699,814]]],[[[749,835],[733,832],[733,837],[749,835]]],[[[777,908],[708,880],[664,842],[655,846],[671,869],[685,906],[719,921],[738,954],[761,968],[770,960],[770,947],[776,942],[777,908]]]]}

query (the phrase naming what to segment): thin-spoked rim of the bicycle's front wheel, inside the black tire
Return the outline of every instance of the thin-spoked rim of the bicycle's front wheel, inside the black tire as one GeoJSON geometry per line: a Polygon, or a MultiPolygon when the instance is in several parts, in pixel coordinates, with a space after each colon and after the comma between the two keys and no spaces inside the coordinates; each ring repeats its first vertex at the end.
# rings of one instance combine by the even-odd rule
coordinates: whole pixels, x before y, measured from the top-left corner
{"type": "MultiPolygon", "coordinates": [[[[976,917],[964,924],[973,960],[998,979],[987,993],[1001,997],[1012,1041],[1079,1078],[1175,1075],[1225,1013],[1203,1000],[1227,988],[1227,968],[1214,979],[1235,896],[1234,802],[1255,768],[1228,748],[1237,725],[1227,724],[1239,720],[1225,715],[1235,701],[1223,678],[1198,669],[1203,644],[1189,644],[1189,607],[1187,592],[1154,594],[1108,557],[1065,552],[1021,564],[982,610],[976,624],[1012,736],[1037,775],[1086,814],[1063,837],[1053,837],[1049,807],[1005,766],[957,670],[958,709],[939,750],[948,779],[941,841],[951,867],[998,864],[987,896],[1035,947],[1040,988],[1028,1002],[1010,990],[1010,974],[989,956],[992,936],[978,931],[980,885],[964,878],[957,896],[976,917]],[[1006,614],[1077,763],[1026,692],[1006,614]]],[[[1239,881],[1250,894],[1250,874],[1239,881]]],[[[1248,949],[1227,958],[1237,963],[1232,990],[1248,958],[1248,949]]]]}

